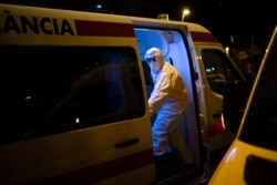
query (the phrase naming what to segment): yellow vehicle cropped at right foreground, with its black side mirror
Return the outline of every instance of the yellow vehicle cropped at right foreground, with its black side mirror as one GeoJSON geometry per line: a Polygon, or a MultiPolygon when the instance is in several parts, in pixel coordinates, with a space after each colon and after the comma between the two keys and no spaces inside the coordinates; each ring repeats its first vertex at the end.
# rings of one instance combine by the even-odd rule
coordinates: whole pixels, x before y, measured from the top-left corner
{"type": "MultiPolygon", "coordinates": [[[[234,86],[236,85],[233,84],[234,86]]],[[[237,136],[214,172],[208,185],[276,185],[277,27],[240,120],[236,119],[240,113],[237,97],[242,96],[242,93],[238,93],[239,91],[234,90],[229,94],[228,91],[224,101],[225,114],[223,116],[227,130],[234,130],[234,125],[239,123],[237,136]]]]}

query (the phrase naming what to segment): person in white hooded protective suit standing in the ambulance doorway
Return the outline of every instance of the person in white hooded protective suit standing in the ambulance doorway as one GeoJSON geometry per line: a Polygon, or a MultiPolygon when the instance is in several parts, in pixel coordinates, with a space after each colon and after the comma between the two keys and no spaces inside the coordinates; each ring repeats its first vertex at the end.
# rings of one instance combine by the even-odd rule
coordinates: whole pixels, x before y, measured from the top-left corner
{"type": "Polygon", "coordinates": [[[154,155],[176,150],[183,163],[189,164],[192,155],[178,127],[188,103],[185,84],[177,70],[164,61],[158,48],[147,50],[145,61],[154,82],[148,99],[150,113],[152,116],[156,114],[152,126],[154,155]]]}

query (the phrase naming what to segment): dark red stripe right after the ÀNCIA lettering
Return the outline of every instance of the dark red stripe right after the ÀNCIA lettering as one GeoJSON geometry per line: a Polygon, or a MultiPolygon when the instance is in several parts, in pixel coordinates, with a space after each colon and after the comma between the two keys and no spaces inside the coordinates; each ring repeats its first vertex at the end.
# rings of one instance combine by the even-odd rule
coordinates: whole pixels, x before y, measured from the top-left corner
{"type": "Polygon", "coordinates": [[[126,37],[126,38],[135,37],[134,28],[130,23],[75,20],[75,25],[78,35],[126,37]]]}

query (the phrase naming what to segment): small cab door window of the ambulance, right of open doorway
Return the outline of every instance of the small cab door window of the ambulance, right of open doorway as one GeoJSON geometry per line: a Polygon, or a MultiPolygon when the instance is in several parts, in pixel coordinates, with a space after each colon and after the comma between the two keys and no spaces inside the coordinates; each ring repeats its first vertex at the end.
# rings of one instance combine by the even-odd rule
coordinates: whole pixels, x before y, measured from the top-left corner
{"type": "Polygon", "coordinates": [[[218,94],[223,94],[222,88],[226,81],[236,81],[242,79],[230,60],[219,50],[202,50],[202,60],[205,66],[209,88],[218,94]]]}

